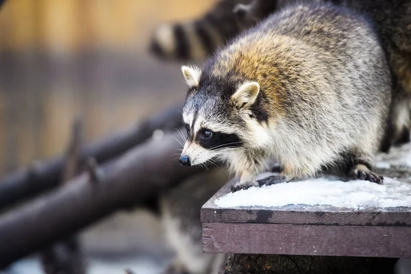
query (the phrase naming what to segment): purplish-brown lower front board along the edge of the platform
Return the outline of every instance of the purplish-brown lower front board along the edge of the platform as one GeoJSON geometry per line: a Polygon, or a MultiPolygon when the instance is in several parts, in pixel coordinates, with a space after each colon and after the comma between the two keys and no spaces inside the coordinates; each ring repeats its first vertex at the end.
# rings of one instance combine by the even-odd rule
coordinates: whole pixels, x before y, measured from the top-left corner
{"type": "Polygon", "coordinates": [[[203,223],[203,251],[411,258],[411,228],[203,223]]]}

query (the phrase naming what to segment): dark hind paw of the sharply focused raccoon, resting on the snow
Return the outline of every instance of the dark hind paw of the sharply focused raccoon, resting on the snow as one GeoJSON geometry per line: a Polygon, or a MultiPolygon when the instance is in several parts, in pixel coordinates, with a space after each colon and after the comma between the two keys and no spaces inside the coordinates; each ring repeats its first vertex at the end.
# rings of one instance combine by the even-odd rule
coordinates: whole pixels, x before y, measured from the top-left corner
{"type": "Polygon", "coordinates": [[[367,153],[348,153],[346,171],[353,179],[361,179],[364,181],[382,184],[384,177],[373,172],[371,156],[367,153]]]}

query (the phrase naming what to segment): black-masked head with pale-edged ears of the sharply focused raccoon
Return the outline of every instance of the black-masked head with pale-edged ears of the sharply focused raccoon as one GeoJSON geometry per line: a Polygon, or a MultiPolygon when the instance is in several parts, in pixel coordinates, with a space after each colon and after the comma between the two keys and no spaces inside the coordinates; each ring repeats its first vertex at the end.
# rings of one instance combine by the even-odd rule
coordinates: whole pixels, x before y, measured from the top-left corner
{"type": "Polygon", "coordinates": [[[253,104],[260,90],[258,83],[240,84],[234,94],[227,97],[215,90],[218,87],[206,83],[200,86],[199,69],[183,66],[182,71],[190,91],[183,109],[188,137],[180,164],[202,164],[212,158],[228,160],[230,153],[245,149],[253,134],[244,116],[251,117],[247,113],[241,115],[239,108],[245,110],[253,104]]]}

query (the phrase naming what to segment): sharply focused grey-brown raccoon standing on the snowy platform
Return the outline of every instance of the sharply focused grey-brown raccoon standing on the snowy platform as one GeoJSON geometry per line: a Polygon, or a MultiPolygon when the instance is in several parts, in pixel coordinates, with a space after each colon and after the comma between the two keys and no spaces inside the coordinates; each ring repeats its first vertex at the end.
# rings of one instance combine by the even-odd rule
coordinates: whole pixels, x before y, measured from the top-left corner
{"type": "Polygon", "coordinates": [[[180,164],[227,162],[233,190],[311,177],[339,166],[381,184],[372,157],[384,132],[391,78],[363,16],[331,4],[272,14],[210,58],[182,66],[188,139],[180,164]],[[256,182],[272,160],[276,177],[256,182]]]}

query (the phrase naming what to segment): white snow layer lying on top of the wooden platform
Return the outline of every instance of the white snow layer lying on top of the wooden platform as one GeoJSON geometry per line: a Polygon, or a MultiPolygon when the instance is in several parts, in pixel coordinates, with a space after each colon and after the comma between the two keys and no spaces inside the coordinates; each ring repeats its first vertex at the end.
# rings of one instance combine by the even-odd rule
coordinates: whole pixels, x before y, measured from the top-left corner
{"type": "MultiPolygon", "coordinates": [[[[266,176],[266,174],[264,174],[266,176]]],[[[260,175],[259,177],[263,177],[260,175]]],[[[288,205],[366,208],[411,207],[411,183],[385,177],[379,185],[362,180],[309,179],[228,193],[214,201],[220,208],[288,205]]]]}

